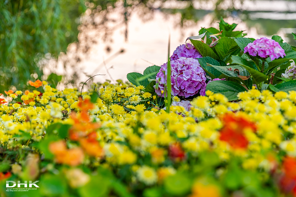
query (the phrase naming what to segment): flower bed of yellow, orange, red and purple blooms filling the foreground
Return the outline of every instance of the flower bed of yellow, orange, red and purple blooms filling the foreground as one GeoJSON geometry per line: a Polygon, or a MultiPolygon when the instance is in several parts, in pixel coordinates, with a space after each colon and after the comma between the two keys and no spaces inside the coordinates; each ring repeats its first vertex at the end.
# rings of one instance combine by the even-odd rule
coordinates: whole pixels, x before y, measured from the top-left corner
{"type": "Polygon", "coordinates": [[[296,80],[287,68],[293,52],[252,58],[254,51],[244,54],[239,41],[226,39],[232,30],[200,32],[194,49],[180,46],[167,64],[129,73],[131,83],[81,93],[37,80],[26,91],[5,91],[0,195],[296,196],[296,80]],[[223,40],[232,42],[231,55],[219,52],[223,40]],[[199,44],[217,47],[207,53],[217,60],[199,44]],[[278,67],[287,78],[273,72],[278,67]],[[39,188],[11,191],[18,181],[39,188]]]}

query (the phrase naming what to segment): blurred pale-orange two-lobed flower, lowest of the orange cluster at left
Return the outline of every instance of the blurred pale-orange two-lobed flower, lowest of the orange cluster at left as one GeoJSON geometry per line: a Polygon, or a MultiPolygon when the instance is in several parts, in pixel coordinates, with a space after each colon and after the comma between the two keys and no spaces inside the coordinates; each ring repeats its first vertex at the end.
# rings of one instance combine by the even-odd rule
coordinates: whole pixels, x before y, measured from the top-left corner
{"type": "Polygon", "coordinates": [[[66,143],[63,140],[52,142],[49,144],[49,151],[55,155],[55,161],[71,166],[76,166],[82,163],[84,154],[81,148],[66,148],[66,143]]]}

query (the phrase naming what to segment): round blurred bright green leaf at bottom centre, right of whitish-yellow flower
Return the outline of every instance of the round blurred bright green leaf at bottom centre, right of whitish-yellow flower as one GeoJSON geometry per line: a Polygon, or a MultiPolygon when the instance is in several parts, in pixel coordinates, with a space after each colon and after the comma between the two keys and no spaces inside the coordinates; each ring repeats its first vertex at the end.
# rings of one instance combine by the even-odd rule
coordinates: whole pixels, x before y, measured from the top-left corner
{"type": "Polygon", "coordinates": [[[190,191],[192,180],[185,173],[176,173],[164,181],[165,190],[175,196],[184,196],[190,191]]]}

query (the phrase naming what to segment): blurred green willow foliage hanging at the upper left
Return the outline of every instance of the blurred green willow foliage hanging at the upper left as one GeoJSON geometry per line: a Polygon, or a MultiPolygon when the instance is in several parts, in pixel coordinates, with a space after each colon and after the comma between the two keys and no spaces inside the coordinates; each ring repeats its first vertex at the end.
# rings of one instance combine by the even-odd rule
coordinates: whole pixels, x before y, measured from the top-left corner
{"type": "Polygon", "coordinates": [[[77,40],[85,8],[84,0],[1,0],[0,91],[40,78],[37,54],[57,55],[77,40]]]}

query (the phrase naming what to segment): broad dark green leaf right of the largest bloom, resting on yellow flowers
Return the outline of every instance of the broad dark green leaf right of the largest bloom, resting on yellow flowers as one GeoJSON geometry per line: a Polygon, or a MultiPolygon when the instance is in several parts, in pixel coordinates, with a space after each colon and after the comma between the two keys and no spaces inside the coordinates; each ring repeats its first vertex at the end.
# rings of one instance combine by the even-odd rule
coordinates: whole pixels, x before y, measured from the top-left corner
{"type": "Polygon", "coordinates": [[[233,81],[211,81],[206,88],[214,93],[226,96],[230,101],[237,100],[237,94],[246,91],[242,85],[233,81]]]}

